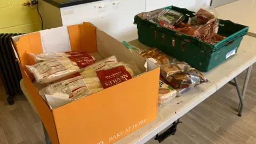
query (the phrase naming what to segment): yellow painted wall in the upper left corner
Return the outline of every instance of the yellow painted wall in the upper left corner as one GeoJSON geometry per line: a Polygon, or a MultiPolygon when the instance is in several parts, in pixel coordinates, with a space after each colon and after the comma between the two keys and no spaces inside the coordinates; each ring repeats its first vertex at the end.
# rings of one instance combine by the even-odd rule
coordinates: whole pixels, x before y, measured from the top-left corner
{"type": "Polygon", "coordinates": [[[31,33],[41,29],[36,5],[23,6],[28,0],[0,0],[0,33],[31,33]]]}

